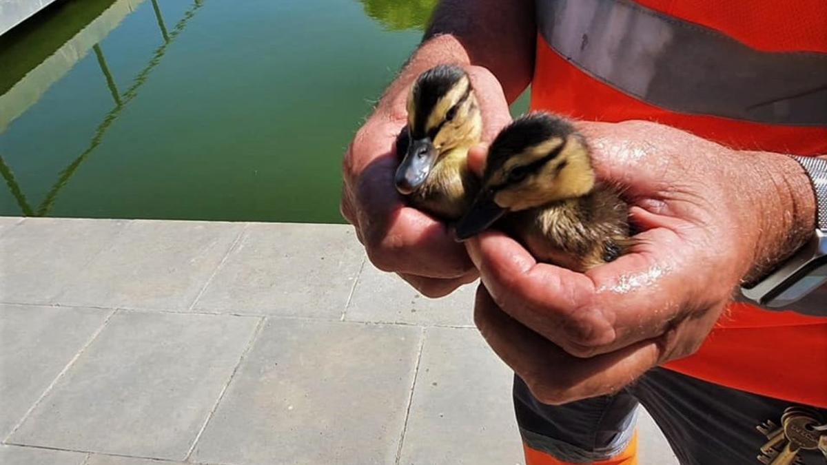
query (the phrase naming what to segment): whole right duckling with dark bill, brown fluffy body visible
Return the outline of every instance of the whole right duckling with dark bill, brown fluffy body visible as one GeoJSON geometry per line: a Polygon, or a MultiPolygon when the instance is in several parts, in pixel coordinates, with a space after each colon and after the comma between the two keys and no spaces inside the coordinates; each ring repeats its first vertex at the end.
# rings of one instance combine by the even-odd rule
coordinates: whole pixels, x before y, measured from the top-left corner
{"type": "Polygon", "coordinates": [[[629,205],[595,179],[586,139],[565,120],[532,113],[491,144],[482,188],[457,223],[457,240],[488,228],[505,213],[504,229],[538,261],[587,271],[631,246],[629,205]]]}

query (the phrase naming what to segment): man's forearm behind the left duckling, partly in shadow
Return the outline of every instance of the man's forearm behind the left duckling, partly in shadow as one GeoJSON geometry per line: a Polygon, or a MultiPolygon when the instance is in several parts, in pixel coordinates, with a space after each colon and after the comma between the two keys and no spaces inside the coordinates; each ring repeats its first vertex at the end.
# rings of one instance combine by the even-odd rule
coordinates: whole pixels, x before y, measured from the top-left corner
{"type": "Polygon", "coordinates": [[[377,111],[404,119],[410,85],[441,64],[487,68],[513,102],[531,81],[535,34],[533,0],[443,0],[423,43],[385,90],[377,111]]]}

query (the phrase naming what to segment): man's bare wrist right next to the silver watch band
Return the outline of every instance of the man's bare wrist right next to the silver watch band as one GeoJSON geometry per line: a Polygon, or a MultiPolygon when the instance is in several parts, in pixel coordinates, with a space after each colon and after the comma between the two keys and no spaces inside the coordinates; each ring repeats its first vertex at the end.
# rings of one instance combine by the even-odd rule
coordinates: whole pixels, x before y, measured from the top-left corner
{"type": "Polygon", "coordinates": [[[767,152],[751,156],[759,180],[752,206],[757,215],[758,240],[752,266],[743,277],[747,283],[767,275],[810,239],[816,212],[810,178],[797,161],[767,152]]]}

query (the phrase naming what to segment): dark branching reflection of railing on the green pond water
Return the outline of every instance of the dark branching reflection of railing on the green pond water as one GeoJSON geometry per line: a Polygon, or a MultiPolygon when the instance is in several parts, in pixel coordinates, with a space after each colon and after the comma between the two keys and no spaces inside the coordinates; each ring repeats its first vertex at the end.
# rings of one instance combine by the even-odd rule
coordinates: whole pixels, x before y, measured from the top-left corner
{"type": "Polygon", "coordinates": [[[100,65],[101,72],[107,80],[109,90],[112,92],[112,98],[115,100],[115,108],[112,108],[112,110],[110,110],[109,113],[103,117],[103,121],[98,124],[98,127],[95,129],[94,135],[89,141],[89,145],[86,150],[75,158],[72,163],[60,171],[60,177],[55,182],[55,185],[52,185],[52,188],[46,194],[45,199],[43,199],[43,202],[37,207],[36,210],[31,209],[31,206],[26,201],[26,196],[23,194],[22,189],[20,189],[20,186],[17,185],[17,180],[15,180],[12,171],[8,169],[8,166],[5,161],[3,161],[2,156],[0,156],[0,175],[2,175],[2,177],[6,180],[6,184],[12,191],[12,195],[17,200],[17,205],[20,207],[24,215],[45,216],[49,213],[50,209],[55,204],[55,199],[57,199],[60,189],[66,185],[72,175],[74,175],[74,172],[86,160],[89,154],[92,153],[98,145],[100,145],[101,141],[103,141],[103,136],[106,134],[109,127],[112,127],[112,123],[115,122],[123,108],[127,106],[127,103],[137,96],[137,90],[140,89],[141,85],[146,82],[151,70],[160,63],[160,59],[166,53],[166,48],[170,46],[175,37],[184,31],[184,26],[186,26],[187,22],[194,17],[198,8],[202,7],[203,1],[204,0],[194,0],[193,7],[189,8],[187,12],[184,12],[184,17],[182,17],[180,21],[175,24],[172,31],[167,34],[163,18],[160,15],[160,8],[157,7],[155,0],[152,0],[152,5],[155,8],[155,17],[158,20],[158,26],[165,41],[161,46],[155,49],[155,52],[152,54],[152,59],[140,73],[136,74],[135,79],[132,79],[132,85],[124,93],[117,93],[115,81],[112,79],[112,74],[109,73],[106,60],[103,58],[103,51],[100,50],[100,47],[98,46],[99,44],[94,46],[95,55],[98,56],[98,65],[100,65]]]}

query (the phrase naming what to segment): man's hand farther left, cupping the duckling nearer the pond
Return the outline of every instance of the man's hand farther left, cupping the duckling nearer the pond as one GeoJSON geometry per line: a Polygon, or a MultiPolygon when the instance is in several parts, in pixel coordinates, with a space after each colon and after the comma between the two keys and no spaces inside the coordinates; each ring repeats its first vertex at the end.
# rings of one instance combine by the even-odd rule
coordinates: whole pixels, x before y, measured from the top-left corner
{"type": "MultiPolygon", "coordinates": [[[[483,115],[483,140],[490,141],[510,122],[508,103],[495,76],[485,68],[466,66],[483,115]]],[[[386,95],[380,107],[356,133],[342,162],[342,216],[356,227],[368,257],[383,271],[394,271],[429,297],[450,294],[477,278],[465,247],[447,226],[404,204],[394,188],[398,161],[396,137],[406,123],[404,98],[386,95]]]]}

